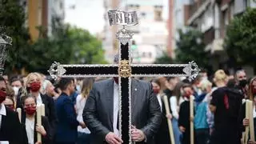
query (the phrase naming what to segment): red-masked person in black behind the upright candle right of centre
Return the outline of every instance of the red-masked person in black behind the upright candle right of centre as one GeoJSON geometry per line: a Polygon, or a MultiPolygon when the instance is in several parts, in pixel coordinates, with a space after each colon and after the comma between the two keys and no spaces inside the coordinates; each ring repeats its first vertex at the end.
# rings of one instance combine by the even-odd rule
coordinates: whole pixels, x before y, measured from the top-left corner
{"type": "Polygon", "coordinates": [[[190,118],[190,97],[194,97],[194,90],[190,84],[184,84],[182,91],[185,101],[182,102],[178,113],[178,126],[182,131],[182,144],[190,144],[190,121],[194,121],[194,118],[190,118]]]}

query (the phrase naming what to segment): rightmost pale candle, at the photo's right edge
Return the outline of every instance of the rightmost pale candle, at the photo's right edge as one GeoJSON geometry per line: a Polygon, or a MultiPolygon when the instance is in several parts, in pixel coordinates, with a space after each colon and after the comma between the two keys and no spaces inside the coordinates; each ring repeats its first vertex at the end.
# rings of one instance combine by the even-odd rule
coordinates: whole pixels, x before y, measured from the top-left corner
{"type": "Polygon", "coordinates": [[[253,113],[253,110],[254,110],[254,104],[252,101],[248,101],[249,102],[249,126],[250,126],[250,140],[251,141],[255,141],[255,138],[254,138],[254,113],[253,113]]]}

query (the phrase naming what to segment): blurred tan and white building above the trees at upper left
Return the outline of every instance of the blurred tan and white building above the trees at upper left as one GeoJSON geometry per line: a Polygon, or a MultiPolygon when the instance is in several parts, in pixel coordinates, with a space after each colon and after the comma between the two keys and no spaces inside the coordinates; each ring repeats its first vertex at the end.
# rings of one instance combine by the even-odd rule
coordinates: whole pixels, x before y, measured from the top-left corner
{"type": "Polygon", "coordinates": [[[64,0],[20,0],[20,2],[26,13],[25,25],[29,28],[32,41],[36,41],[39,37],[39,26],[46,30],[45,36],[50,37],[53,20],[64,22],[64,0]]]}

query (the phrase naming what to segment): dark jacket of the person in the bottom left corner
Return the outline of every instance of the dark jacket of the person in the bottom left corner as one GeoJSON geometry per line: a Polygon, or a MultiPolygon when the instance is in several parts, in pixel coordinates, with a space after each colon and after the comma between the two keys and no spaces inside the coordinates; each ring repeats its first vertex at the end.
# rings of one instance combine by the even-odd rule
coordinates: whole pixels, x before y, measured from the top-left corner
{"type": "Polygon", "coordinates": [[[0,141],[9,141],[10,144],[19,144],[21,135],[21,124],[18,113],[6,107],[6,116],[2,115],[0,127],[0,141]]]}

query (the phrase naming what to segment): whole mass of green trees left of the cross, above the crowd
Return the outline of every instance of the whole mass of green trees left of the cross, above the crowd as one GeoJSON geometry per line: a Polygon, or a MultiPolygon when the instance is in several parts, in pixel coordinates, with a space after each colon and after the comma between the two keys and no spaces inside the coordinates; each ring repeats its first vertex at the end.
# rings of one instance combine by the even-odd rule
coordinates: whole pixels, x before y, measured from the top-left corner
{"type": "Polygon", "coordinates": [[[6,26],[6,34],[13,38],[13,45],[6,60],[6,73],[38,71],[47,74],[56,61],[63,64],[106,63],[102,42],[87,30],[63,25],[53,19],[52,36],[47,37],[46,28],[38,26],[40,32],[36,42],[24,26],[25,13],[17,0],[0,0],[0,26],[6,26]]]}

